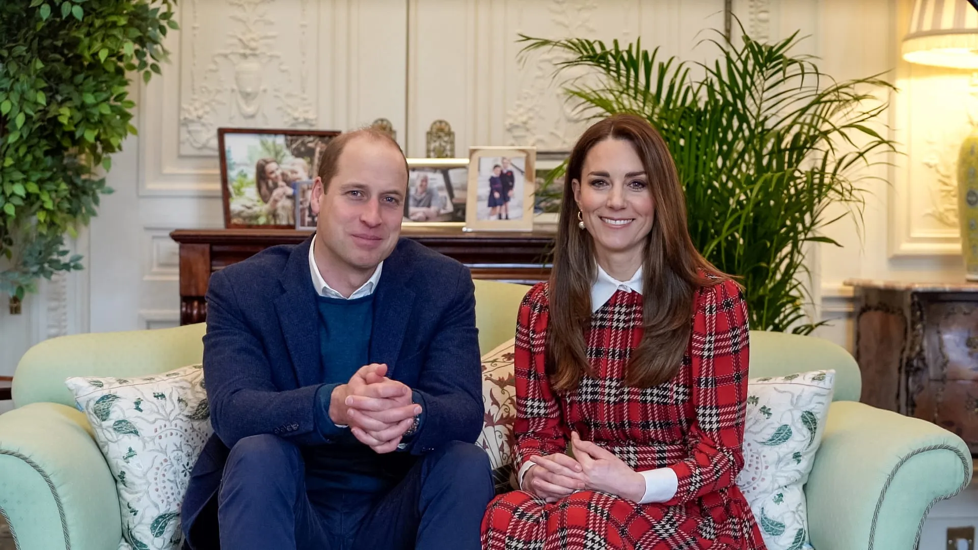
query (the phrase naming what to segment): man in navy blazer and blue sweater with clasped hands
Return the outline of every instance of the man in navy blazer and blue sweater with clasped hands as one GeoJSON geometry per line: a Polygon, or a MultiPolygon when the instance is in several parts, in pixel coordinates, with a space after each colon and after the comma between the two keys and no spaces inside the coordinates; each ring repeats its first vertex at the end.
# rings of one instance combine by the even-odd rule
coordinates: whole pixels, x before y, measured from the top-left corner
{"type": "Polygon", "coordinates": [[[471,275],[399,239],[408,173],[390,138],[343,134],[321,164],[315,236],[211,276],[215,435],[184,503],[188,545],[479,548],[493,489],[472,444],[471,275]]]}

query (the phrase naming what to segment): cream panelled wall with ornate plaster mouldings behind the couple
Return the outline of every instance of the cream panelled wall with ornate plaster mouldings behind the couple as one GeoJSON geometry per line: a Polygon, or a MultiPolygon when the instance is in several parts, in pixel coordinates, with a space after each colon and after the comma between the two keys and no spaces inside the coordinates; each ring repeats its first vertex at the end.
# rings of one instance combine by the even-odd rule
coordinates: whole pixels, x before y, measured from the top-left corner
{"type": "MultiPolygon", "coordinates": [[[[850,277],[962,279],[953,186],[956,147],[976,105],[968,74],[900,60],[910,0],[736,0],[755,37],[808,36],[799,51],[837,79],[885,72],[901,91],[887,122],[902,142],[892,166],[866,172],[862,234],[828,230],[844,247],[811,261],[822,336],[852,340],[850,277]],[[912,184],[911,184],[912,183],[912,184]]],[[[470,145],[567,149],[581,125],[551,79],[554,55],[517,59],[516,33],[661,46],[708,61],[697,42],[722,28],[723,0],[183,0],[171,62],[134,85],[138,137],[113,158],[113,195],[74,244],[88,269],[58,277],[21,316],[0,308],[0,375],[30,344],[60,334],[156,328],[178,321],[176,228],[221,227],[216,128],[345,130],[390,119],[409,156],[438,118],[470,145]]]]}

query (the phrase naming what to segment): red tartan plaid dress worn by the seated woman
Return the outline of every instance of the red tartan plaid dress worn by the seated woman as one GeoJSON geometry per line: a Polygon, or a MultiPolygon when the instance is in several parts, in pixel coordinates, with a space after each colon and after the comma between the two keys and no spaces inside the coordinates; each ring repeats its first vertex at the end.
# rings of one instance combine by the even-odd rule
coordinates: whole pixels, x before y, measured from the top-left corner
{"type": "Polygon", "coordinates": [[[637,504],[578,491],[547,504],[525,491],[500,495],[482,521],[488,550],[764,549],[735,480],[747,398],[747,310],[733,282],[700,289],[689,347],[676,377],[639,390],[624,367],[642,340],[642,295],[615,292],[591,318],[587,354],[596,376],[577,390],[551,390],[544,370],[548,284],[519,309],[515,344],[518,468],[533,455],[563,452],[576,430],[636,471],[672,468],[668,502],[637,504]]]}

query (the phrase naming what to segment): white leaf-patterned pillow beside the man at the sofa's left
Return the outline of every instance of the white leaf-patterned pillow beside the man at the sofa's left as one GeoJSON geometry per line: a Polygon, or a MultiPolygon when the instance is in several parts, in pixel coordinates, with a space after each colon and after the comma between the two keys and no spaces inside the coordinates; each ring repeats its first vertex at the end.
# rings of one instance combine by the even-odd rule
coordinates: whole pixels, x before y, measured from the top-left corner
{"type": "Polygon", "coordinates": [[[211,435],[203,369],[136,379],[69,378],[115,478],[122,536],[134,550],[177,549],[190,471],[211,435]]]}

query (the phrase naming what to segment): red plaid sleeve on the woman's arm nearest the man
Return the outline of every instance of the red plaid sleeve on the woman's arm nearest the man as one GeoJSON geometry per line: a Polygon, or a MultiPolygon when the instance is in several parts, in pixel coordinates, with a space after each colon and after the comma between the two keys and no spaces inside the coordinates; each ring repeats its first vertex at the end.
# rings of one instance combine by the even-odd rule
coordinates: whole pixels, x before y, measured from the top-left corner
{"type": "Polygon", "coordinates": [[[541,283],[523,298],[516,320],[516,470],[531,456],[563,452],[567,445],[567,428],[544,365],[547,319],[547,284],[541,283]]]}

